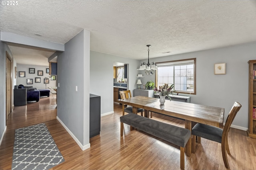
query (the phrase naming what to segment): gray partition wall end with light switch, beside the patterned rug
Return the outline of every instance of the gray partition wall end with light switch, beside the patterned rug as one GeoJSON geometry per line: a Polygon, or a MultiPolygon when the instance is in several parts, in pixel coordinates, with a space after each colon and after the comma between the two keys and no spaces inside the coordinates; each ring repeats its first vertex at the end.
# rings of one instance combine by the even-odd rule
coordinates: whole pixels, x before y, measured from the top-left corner
{"type": "Polygon", "coordinates": [[[83,30],[58,55],[58,118],[84,145],[89,143],[90,32],[83,30]],[[75,91],[75,87],[78,91],[75,91]]]}

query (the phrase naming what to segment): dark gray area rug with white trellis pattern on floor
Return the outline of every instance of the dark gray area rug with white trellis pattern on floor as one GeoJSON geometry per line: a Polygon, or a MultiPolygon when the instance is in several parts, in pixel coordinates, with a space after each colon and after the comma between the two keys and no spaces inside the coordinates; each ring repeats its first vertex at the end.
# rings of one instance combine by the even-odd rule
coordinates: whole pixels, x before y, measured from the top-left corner
{"type": "Polygon", "coordinates": [[[48,170],[64,158],[44,123],[15,130],[12,170],[48,170]]]}

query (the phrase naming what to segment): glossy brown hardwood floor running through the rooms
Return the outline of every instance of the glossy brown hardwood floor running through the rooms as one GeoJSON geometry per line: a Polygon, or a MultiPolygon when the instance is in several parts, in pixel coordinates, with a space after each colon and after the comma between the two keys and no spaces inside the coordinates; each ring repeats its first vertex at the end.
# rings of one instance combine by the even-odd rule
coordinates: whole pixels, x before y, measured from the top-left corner
{"type": "MultiPolygon", "coordinates": [[[[239,114],[239,113],[238,113],[239,114]]],[[[240,113],[242,114],[242,113],[240,113]]],[[[45,123],[65,162],[53,170],[170,170],[180,169],[179,147],[148,135],[142,131],[130,131],[124,124],[124,137],[120,137],[122,106],[114,104],[114,113],[101,117],[100,135],[90,139],[91,147],[82,151],[56,119],[56,98],[41,98],[37,103],[14,107],[9,115],[6,134],[0,146],[0,169],[10,170],[15,129],[45,123]]],[[[153,119],[184,127],[184,121],[154,114],[153,119]]],[[[75,122],[74,122],[75,123],[75,122]]],[[[246,131],[230,128],[228,142],[231,170],[256,169],[256,139],[247,137],[246,131]]],[[[196,153],[185,155],[186,170],[224,170],[220,143],[201,140],[196,153]]]]}

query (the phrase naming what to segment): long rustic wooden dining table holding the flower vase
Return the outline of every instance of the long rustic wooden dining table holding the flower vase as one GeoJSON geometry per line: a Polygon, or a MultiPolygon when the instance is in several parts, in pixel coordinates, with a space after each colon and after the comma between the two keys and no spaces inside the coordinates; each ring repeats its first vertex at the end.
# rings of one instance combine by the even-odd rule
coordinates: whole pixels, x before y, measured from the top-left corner
{"type": "MultiPolygon", "coordinates": [[[[185,120],[185,128],[192,130],[192,122],[203,123],[216,127],[222,127],[224,118],[224,108],[204,106],[200,104],[192,104],[186,102],[177,102],[166,100],[164,104],[160,104],[159,99],[145,96],[136,96],[127,99],[119,99],[118,102],[124,105],[132,106],[133,113],[137,113],[138,108],[144,109],[145,117],[148,112],[153,111],[172,117],[185,120]]],[[[186,155],[191,155],[191,137],[185,147],[186,155]]]]}

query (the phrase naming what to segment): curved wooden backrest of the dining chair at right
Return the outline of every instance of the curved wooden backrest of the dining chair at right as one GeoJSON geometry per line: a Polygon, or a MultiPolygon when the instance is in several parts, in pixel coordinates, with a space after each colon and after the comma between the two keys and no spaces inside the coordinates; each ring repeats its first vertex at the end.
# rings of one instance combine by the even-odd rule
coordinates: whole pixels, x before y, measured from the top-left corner
{"type": "Polygon", "coordinates": [[[222,140],[224,140],[223,138],[226,138],[226,136],[228,134],[228,131],[230,129],[230,125],[232,124],[232,122],[233,122],[233,120],[236,116],[236,113],[240,110],[241,107],[242,106],[241,106],[240,103],[235,102],[234,105],[232,106],[232,108],[230,109],[230,112],[228,114],[224,129],[223,129],[223,132],[222,132],[222,140]]]}

